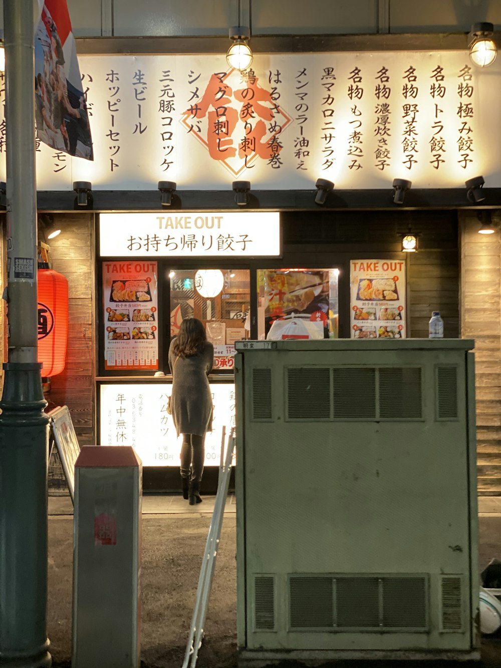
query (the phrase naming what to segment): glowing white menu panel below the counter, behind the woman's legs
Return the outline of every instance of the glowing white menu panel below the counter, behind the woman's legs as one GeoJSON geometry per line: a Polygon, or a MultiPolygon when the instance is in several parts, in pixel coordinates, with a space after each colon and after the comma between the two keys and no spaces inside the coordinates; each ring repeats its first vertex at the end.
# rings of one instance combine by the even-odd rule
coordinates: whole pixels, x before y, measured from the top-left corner
{"type": "MultiPolygon", "coordinates": [[[[143,466],[179,466],[182,436],[167,412],[171,383],[100,386],[102,446],[132,446],[143,466]]],[[[219,466],[222,428],[235,426],[233,383],[210,383],[214,417],[205,438],[205,466],[219,466]]]]}

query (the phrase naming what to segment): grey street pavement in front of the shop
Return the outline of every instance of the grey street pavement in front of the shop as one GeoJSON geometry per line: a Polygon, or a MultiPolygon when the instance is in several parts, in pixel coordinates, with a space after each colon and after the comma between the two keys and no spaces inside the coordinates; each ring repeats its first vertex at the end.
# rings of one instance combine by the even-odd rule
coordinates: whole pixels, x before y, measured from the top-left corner
{"type": "MultiPolygon", "coordinates": [[[[176,495],[143,498],[142,668],[182,666],[213,506],[214,497],[204,497],[198,506],[176,495]]],[[[236,667],[235,510],[230,495],[198,655],[200,668],[236,667]]],[[[501,558],[501,498],[485,498],[479,510],[482,569],[493,556],[501,558]]],[[[72,511],[69,496],[49,498],[48,635],[53,665],[61,668],[71,665],[72,511]]],[[[355,663],[360,668],[368,662],[347,665],[355,668],[355,663]]],[[[400,663],[391,663],[391,668],[400,663]]],[[[426,668],[436,665],[419,663],[426,668]]],[[[482,664],[501,668],[501,637],[484,639],[482,664]]],[[[341,668],[341,663],[335,665],[341,668]]],[[[417,663],[411,665],[418,668],[417,663]]]]}

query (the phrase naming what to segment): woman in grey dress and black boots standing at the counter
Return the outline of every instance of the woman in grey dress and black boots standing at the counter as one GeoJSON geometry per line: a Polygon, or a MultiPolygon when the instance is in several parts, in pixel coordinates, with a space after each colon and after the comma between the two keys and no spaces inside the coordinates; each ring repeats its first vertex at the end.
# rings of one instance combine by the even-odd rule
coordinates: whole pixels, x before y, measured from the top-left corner
{"type": "Polygon", "coordinates": [[[178,436],[182,434],[182,492],[190,506],[202,502],[204,440],[206,432],[212,431],[212,397],[207,375],[213,364],[214,347],[207,341],[203,323],[196,318],[184,319],[179,335],[170,343],[169,367],[172,418],[178,436]]]}

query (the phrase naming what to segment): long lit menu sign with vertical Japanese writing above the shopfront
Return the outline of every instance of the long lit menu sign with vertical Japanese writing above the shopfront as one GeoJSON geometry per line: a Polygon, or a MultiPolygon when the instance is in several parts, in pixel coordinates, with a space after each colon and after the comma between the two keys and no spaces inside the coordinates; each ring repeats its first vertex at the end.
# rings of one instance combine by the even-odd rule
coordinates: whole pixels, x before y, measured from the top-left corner
{"type": "MultiPolygon", "coordinates": [[[[294,190],[319,176],[336,188],[386,188],[395,176],[452,188],[479,174],[501,186],[501,62],[474,67],[466,44],[256,54],[243,73],[224,54],[80,55],[79,65],[94,163],[38,143],[39,190],[71,190],[74,180],[153,190],[159,178],[181,189],[248,179],[253,190],[294,190]]],[[[51,94],[41,92],[45,104],[51,94]]]]}

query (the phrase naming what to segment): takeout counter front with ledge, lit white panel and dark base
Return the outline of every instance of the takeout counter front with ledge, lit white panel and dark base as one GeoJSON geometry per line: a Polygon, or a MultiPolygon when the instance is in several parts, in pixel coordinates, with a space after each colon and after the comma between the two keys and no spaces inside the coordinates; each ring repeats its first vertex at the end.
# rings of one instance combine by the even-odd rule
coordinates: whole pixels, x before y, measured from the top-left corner
{"type": "MultiPolygon", "coordinates": [[[[96,381],[98,443],[134,448],[143,463],[144,490],[177,491],[182,436],[176,436],[167,412],[172,375],[98,377],[96,381]]],[[[234,376],[212,373],[209,383],[214,419],[205,440],[206,493],[217,489],[223,427],[227,435],[235,421],[234,376]]]]}

